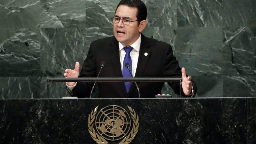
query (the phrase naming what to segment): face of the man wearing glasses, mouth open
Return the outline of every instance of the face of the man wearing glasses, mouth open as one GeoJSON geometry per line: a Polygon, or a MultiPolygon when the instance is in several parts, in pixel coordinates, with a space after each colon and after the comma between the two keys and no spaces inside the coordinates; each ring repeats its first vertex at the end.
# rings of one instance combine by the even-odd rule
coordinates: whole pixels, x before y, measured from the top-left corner
{"type": "MultiPolygon", "coordinates": [[[[130,21],[137,20],[137,8],[120,5],[117,8],[116,17],[121,19],[126,18],[130,21]]],[[[131,22],[129,25],[124,25],[120,19],[119,23],[114,23],[113,31],[118,42],[125,46],[133,44],[140,35],[138,21],[131,22]]]]}

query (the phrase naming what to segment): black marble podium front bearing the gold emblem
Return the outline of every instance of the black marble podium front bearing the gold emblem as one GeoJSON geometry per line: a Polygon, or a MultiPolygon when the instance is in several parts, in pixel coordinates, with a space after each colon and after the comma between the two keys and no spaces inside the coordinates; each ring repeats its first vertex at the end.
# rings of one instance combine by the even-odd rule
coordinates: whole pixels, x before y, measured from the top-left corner
{"type": "Polygon", "coordinates": [[[0,143],[256,143],[256,98],[2,99],[0,111],[0,143]]]}

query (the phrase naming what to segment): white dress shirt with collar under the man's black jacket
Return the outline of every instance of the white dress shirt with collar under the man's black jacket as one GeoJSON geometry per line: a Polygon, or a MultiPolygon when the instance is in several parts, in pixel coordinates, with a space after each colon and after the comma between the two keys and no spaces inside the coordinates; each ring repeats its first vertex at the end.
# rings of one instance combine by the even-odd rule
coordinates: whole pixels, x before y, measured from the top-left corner
{"type": "MultiPolygon", "coordinates": [[[[131,47],[133,47],[132,51],[130,52],[130,56],[132,59],[132,75],[135,77],[136,69],[137,69],[137,64],[138,64],[138,59],[139,59],[139,49],[140,49],[140,42],[141,42],[141,34],[138,38],[137,41],[135,41],[131,47]]],[[[123,73],[123,63],[124,63],[124,57],[125,57],[125,50],[123,49],[124,45],[122,45],[120,42],[118,42],[119,45],[119,55],[120,55],[120,63],[121,63],[121,70],[123,73]]],[[[66,84],[67,85],[67,84],[66,84]]],[[[69,92],[72,93],[72,89],[76,86],[76,83],[73,86],[68,86],[67,88],[69,92]]]]}

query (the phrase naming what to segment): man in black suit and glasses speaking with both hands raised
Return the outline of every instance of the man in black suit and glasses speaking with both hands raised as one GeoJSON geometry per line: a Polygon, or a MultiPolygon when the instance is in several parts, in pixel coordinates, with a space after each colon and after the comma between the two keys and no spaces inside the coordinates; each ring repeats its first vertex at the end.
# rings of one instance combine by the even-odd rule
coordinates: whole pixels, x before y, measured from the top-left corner
{"type": "MultiPolygon", "coordinates": [[[[97,77],[102,61],[105,67],[99,77],[131,77],[125,64],[130,65],[134,77],[182,77],[182,95],[193,97],[196,86],[187,77],[185,68],[173,56],[167,43],[145,37],[141,32],[147,25],[147,8],[140,0],[122,0],[117,6],[113,20],[114,37],[94,41],[83,63],[80,75],[79,63],[66,69],[65,77],[97,77]],[[128,74],[127,74],[128,73],[128,74]]],[[[176,94],[179,83],[168,83],[176,94]]],[[[66,82],[68,91],[78,98],[90,96],[92,82],[66,82]]],[[[163,83],[138,83],[140,97],[154,97],[161,93],[163,83]]],[[[100,98],[138,97],[134,83],[98,83],[100,98]]]]}

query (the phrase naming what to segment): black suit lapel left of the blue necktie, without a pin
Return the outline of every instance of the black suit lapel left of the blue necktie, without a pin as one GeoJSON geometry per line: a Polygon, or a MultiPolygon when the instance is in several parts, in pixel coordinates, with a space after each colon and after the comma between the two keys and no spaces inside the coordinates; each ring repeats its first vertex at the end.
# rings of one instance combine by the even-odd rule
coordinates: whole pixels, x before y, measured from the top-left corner
{"type": "MultiPolygon", "coordinates": [[[[120,64],[120,54],[119,54],[119,45],[116,38],[113,38],[113,41],[110,43],[110,47],[108,49],[108,54],[111,59],[111,63],[114,69],[114,72],[116,74],[116,77],[123,77],[122,70],[121,70],[121,64],[120,64]]],[[[121,84],[122,92],[126,95],[126,89],[123,82],[121,84]]]]}

